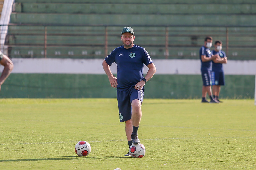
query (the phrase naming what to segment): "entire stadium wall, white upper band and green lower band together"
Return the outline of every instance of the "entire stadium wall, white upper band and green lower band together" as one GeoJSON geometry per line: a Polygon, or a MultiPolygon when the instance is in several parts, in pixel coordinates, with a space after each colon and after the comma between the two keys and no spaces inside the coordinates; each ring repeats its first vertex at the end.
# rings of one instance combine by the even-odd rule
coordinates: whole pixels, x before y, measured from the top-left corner
{"type": "MultiPolygon", "coordinates": [[[[1,98],[115,98],[101,66],[103,59],[13,58],[14,69],[1,98]]],[[[145,98],[201,98],[199,60],[154,60],[157,73],[145,86],[145,98]]],[[[256,61],[228,61],[221,98],[254,98],[256,61]]],[[[3,67],[0,68],[2,70],[3,67]]],[[[111,66],[116,73],[116,66],[111,66]]],[[[145,73],[147,69],[145,67],[145,73]]]]}

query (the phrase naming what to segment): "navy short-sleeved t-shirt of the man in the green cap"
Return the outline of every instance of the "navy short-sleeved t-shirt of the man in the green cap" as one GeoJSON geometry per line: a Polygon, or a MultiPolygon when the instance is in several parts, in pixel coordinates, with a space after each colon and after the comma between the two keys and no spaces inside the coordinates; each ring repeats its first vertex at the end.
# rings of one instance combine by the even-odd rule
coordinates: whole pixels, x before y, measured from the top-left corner
{"type": "Polygon", "coordinates": [[[143,66],[153,63],[148,52],[137,45],[126,49],[115,48],[106,58],[108,65],[117,64],[117,89],[126,90],[143,78],[143,66]]]}

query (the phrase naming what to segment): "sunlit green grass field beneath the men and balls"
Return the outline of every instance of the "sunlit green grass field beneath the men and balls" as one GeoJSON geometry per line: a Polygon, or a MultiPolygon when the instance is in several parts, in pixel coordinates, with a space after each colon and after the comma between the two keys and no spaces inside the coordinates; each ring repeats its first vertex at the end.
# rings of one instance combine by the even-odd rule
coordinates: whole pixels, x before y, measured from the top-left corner
{"type": "Polygon", "coordinates": [[[144,99],[146,154],[127,158],[116,99],[0,99],[0,169],[256,169],[254,101],[223,101],[144,99]]]}

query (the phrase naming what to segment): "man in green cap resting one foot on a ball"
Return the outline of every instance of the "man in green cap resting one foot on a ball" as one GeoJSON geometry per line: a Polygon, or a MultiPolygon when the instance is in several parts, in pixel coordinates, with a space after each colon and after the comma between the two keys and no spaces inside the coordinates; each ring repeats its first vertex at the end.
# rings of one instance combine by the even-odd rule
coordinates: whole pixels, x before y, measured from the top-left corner
{"type": "MultiPolygon", "coordinates": [[[[115,48],[102,62],[112,87],[117,88],[117,102],[120,122],[125,122],[125,132],[129,147],[139,144],[138,128],[141,120],[141,104],[145,83],[153,77],[156,67],[148,52],[133,44],[135,39],[131,27],[124,27],[121,33],[123,45],[115,48]],[[110,70],[117,64],[117,77],[110,70]],[[149,70],[143,77],[143,66],[149,70]]],[[[125,156],[130,156],[129,152],[125,156]]]]}

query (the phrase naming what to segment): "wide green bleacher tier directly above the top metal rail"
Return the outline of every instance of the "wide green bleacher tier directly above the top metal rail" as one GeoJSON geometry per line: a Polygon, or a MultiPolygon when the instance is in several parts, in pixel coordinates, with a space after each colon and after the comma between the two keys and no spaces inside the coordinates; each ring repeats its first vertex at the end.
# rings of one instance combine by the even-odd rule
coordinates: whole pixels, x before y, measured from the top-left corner
{"type": "Polygon", "coordinates": [[[46,14],[46,13],[12,13],[12,23],[27,23],[27,24],[60,24],[60,25],[126,25],[127,20],[133,20],[134,25],[180,25],[191,26],[211,26],[216,20],[218,25],[226,25],[229,23],[230,26],[256,26],[254,15],[182,15],[182,14],[165,14],[165,15],[153,15],[153,14],[46,14]]]}

